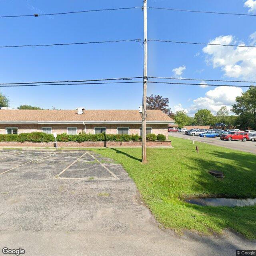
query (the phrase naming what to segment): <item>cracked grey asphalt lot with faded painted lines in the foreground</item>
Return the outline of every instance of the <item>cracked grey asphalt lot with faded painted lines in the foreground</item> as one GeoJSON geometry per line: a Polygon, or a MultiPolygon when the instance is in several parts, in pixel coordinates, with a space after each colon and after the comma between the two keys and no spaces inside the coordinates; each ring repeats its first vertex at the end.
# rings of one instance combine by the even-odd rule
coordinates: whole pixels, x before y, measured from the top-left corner
{"type": "Polygon", "coordinates": [[[256,249],[255,241],[228,230],[180,236],[160,228],[122,166],[94,152],[0,151],[0,182],[1,251],[223,256],[256,249]]]}

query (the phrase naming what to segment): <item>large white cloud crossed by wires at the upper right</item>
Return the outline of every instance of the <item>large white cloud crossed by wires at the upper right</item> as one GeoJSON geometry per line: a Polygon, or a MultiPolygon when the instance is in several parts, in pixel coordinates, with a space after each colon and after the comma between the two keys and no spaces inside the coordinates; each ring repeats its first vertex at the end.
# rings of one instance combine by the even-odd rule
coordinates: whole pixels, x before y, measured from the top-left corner
{"type": "MultiPolygon", "coordinates": [[[[255,45],[256,33],[249,38],[250,45],[255,45]]],[[[216,37],[210,43],[244,45],[243,42],[237,42],[232,35],[216,37]]],[[[208,64],[212,64],[213,68],[221,68],[225,76],[256,79],[256,48],[208,45],[203,48],[203,52],[208,54],[208,64]]]]}

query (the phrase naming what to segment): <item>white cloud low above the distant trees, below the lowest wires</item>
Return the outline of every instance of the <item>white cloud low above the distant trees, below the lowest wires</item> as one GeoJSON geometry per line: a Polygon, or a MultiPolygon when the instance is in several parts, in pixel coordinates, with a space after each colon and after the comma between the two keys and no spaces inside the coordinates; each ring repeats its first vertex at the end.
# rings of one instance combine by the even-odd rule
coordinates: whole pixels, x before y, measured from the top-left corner
{"type": "Polygon", "coordinates": [[[193,100],[192,105],[185,111],[190,115],[194,115],[197,110],[207,108],[213,114],[222,107],[226,106],[228,110],[232,108],[232,104],[236,102],[236,97],[242,95],[242,89],[239,87],[229,88],[226,86],[218,86],[213,90],[206,92],[204,97],[193,100]]]}

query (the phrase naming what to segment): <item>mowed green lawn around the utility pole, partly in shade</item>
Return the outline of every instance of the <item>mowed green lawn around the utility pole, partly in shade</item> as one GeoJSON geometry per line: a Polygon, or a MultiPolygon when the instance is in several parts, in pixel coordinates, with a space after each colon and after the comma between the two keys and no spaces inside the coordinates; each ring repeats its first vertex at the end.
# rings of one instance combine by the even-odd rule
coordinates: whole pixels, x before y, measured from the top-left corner
{"type": "MultiPolygon", "coordinates": [[[[178,233],[221,233],[224,228],[256,239],[256,206],[212,207],[184,202],[192,196],[256,198],[256,155],[190,140],[171,138],[174,148],[104,148],[95,152],[122,164],[155,218],[178,233]],[[199,146],[199,154],[195,146],[199,146]],[[223,179],[208,171],[224,172],[223,179]]],[[[241,142],[244,143],[244,142],[241,142]]],[[[251,143],[251,142],[245,142],[251,143]]],[[[253,143],[253,142],[252,142],[253,143]]]]}

